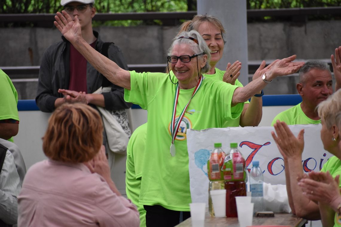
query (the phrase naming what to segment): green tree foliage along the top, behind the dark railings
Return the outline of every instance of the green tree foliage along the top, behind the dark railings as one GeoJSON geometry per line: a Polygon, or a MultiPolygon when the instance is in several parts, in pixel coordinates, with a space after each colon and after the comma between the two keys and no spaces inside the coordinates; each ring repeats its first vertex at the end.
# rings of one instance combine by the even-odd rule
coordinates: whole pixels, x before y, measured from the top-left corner
{"type": "MultiPolygon", "coordinates": [[[[208,0],[207,0],[208,1],[208,0]]],[[[241,1],[241,0],[240,0],[241,1]]],[[[328,7],[341,6],[341,0],[246,0],[247,9],[280,9],[300,7],[328,7]]],[[[214,4],[214,0],[212,1],[214,4]]],[[[196,0],[95,0],[94,6],[98,13],[132,13],[132,12],[183,12],[195,11],[196,0]]],[[[6,13],[56,13],[63,7],[60,0],[0,0],[0,14],[6,13]]],[[[330,19],[340,16],[309,16],[309,19],[330,19]]],[[[265,17],[251,18],[249,22],[257,20],[283,20],[285,18],[265,17]]],[[[182,22],[182,21],[179,21],[182,22]]],[[[25,23],[18,23],[23,26],[25,23]]],[[[136,26],[162,25],[160,20],[149,21],[94,21],[94,26],[136,26]]],[[[1,25],[1,23],[0,23],[1,25]]],[[[5,23],[4,26],[15,26],[15,23],[5,23]]],[[[32,24],[31,24],[32,26],[32,24]]],[[[34,26],[34,25],[33,25],[34,26]]]]}

